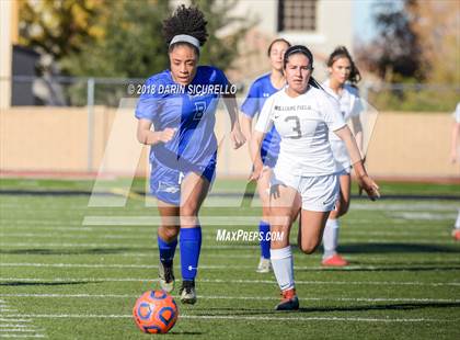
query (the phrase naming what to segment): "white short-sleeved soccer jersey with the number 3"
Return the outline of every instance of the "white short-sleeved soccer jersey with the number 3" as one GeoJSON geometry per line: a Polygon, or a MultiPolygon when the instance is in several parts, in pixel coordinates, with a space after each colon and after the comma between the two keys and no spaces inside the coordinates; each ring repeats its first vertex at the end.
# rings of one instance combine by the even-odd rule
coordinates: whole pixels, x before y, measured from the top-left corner
{"type": "Polygon", "coordinates": [[[345,121],[326,92],[312,87],[297,98],[276,92],[265,102],[255,129],[267,133],[274,124],[281,137],[275,171],[304,177],[336,172],[329,132],[344,127],[345,121]]]}

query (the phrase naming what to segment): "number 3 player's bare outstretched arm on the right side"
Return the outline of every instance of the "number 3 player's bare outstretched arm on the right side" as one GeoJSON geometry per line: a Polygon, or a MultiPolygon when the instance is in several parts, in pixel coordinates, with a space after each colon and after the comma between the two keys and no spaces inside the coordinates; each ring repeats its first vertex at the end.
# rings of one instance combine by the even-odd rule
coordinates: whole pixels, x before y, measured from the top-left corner
{"type": "Polygon", "coordinates": [[[359,191],[366,191],[367,195],[372,201],[380,197],[379,185],[377,185],[377,183],[367,174],[359,148],[356,145],[355,137],[353,137],[349,127],[345,125],[344,127],[334,131],[334,133],[345,143],[353,168],[355,169],[356,178],[358,180],[359,191]]]}

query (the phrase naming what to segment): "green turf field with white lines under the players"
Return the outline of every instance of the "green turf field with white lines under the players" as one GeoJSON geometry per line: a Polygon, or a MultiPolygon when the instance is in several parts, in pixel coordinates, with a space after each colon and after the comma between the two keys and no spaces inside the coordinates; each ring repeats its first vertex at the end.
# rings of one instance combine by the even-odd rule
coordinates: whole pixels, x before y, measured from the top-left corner
{"type": "MultiPolygon", "coordinates": [[[[92,188],[88,181],[0,184],[3,191],[92,188]]],[[[234,193],[244,185],[221,182],[214,190],[234,193]]],[[[137,181],[135,188],[145,186],[137,181]]],[[[216,241],[217,229],[255,230],[251,224],[258,208],[241,207],[238,195],[210,196],[202,213],[198,303],[179,303],[180,318],[166,337],[460,339],[460,242],[450,237],[460,202],[429,200],[458,196],[459,185],[381,188],[383,194],[427,199],[353,201],[340,242],[348,268],[321,268],[320,252],[304,256],[296,249],[297,313],[273,310],[278,287],[273,273],[255,273],[256,242],[216,241]]],[[[123,199],[105,199],[113,203],[114,197],[123,199]]],[[[126,206],[89,207],[89,199],[0,195],[0,338],[159,337],[141,333],[131,319],[136,298],[158,287],[154,207],[137,194],[126,206]]],[[[180,276],[179,251],[175,264],[180,276]]]]}

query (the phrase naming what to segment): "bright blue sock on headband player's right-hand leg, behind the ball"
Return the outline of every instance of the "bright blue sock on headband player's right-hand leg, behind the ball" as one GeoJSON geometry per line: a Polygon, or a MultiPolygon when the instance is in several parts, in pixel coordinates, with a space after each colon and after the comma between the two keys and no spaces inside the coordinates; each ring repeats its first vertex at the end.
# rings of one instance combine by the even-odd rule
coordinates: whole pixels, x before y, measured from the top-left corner
{"type": "Polygon", "coordinates": [[[202,249],[202,227],[181,228],[180,243],[182,280],[195,280],[202,249]]]}

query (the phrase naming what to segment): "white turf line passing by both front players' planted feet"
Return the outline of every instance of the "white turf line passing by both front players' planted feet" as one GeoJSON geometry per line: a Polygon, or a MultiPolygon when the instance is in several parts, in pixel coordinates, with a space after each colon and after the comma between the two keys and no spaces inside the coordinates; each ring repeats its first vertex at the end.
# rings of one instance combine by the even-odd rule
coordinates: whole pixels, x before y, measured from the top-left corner
{"type": "MultiPolygon", "coordinates": [[[[135,294],[0,294],[2,297],[43,297],[43,298],[137,298],[135,294]]],[[[179,296],[174,296],[179,298],[179,296]]],[[[253,299],[278,301],[275,296],[226,296],[198,295],[203,299],[253,299]]],[[[417,303],[460,303],[456,298],[399,298],[399,297],[301,297],[300,301],[332,301],[332,302],[417,302],[417,303]]],[[[0,326],[1,327],[1,326],[0,326]]],[[[22,326],[24,327],[24,326],[22,326]]]]}

